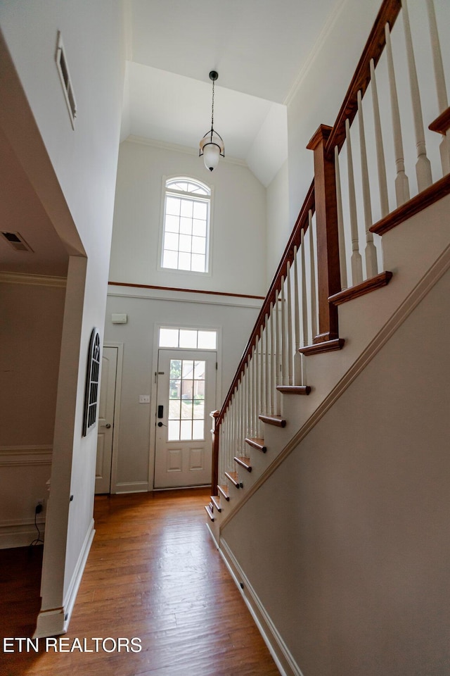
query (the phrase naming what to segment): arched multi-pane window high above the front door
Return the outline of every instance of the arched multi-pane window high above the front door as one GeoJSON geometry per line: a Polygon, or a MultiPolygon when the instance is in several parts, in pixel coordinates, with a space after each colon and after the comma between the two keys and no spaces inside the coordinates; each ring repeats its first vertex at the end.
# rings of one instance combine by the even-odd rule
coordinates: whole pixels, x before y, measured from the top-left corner
{"type": "Polygon", "coordinates": [[[211,189],[189,177],[165,182],[161,268],[209,271],[211,189]]]}

